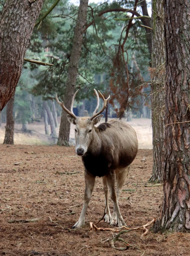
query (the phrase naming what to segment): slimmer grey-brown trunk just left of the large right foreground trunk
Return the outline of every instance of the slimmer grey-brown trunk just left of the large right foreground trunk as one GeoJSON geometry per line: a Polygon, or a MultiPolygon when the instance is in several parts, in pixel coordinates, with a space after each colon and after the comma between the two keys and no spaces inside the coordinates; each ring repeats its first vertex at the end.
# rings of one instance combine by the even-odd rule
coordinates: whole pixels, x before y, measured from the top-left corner
{"type": "Polygon", "coordinates": [[[164,43],[164,0],[152,0],[152,69],[151,108],[153,169],[149,182],[159,183],[164,169],[164,83],[165,83],[165,43],[164,43]],[[158,17],[157,14],[160,16],[158,17]]]}

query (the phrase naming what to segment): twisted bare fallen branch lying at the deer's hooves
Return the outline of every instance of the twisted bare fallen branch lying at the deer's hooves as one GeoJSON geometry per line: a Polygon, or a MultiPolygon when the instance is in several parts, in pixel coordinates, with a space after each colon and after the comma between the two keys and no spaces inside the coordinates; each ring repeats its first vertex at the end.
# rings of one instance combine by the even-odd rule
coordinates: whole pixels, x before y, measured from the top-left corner
{"type": "Polygon", "coordinates": [[[156,221],[156,218],[153,218],[153,220],[149,221],[147,224],[142,225],[142,226],[140,226],[140,227],[136,227],[136,228],[128,228],[128,227],[126,227],[126,226],[122,226],[122,227],[118,227],[118,228],[98,228],[96,225],[93,224],[93,222],[90,222],[90,231],[92,231],[93,228],[94,228],[96,231],[98,231],[98,230],[100,230],[100,231],[111,231],[111,232],[114,232],[114,233],[119,232],[116,237],[114,237],[114,238],[112,238],[112,237],[111,237],[111,238],[108,238],[105,242],[108,242],[108,241],[111,240],[110,243],[111,243],[111,247],[112,247],[113,249],[123,251],[123,250],[128,250],[129,247],[131,247],[131,245],[129,245],[129,244],[128,244],[125,240],[123,240],[122,238],[120,238],[120,235],[122,235],[122,234],[124,234],[124,233],[129,233],[129,232],[131,232],[131,231],[133,231],[133,230],[142,229],[143,233],[142,233],[142,235],[141,235],[141,238],[143,238],[144,236],[147,235],[147,233],[148,233],[148,231],[149,231],[147,227],[149,227],[151,224],[154,224],[155,221],[156,221]],[[127,230],[122,230],[122,229],[127,229],[127,230]],[[118,241],[121,241],[121,242],[123,242],[123,243],[126,243],[127,246],[126,246],[126,247],[115,247],[115,246],[114,246],[114,243],[115,243],[117,240],[118,240],[118,241]]]}

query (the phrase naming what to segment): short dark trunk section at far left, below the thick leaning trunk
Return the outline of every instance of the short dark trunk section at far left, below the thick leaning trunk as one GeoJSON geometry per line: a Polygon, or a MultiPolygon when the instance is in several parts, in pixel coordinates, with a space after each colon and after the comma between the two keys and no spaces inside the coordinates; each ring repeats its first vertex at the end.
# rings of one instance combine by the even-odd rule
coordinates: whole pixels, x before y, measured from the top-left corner
{"type": "Polygon", "coordinates": [[[13,107],[14,107],[14,95],[10,98],[7,104],[7,124],[5,127],[5,135],[3,144],[14,144],[14,114],[13,114],[13,107]]]}

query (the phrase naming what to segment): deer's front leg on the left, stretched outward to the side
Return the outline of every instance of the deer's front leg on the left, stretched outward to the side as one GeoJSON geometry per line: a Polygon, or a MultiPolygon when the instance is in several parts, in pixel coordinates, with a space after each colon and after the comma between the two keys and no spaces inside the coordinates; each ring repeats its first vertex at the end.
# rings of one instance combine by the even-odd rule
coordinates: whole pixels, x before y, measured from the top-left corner
{"type": "Polygon", "coordinates": [[[86,188],[85,188],[85,192],[84,192],[84,204],[83,204],[83,207],[82,207],[80,218],[74,224],[74,226],[72,226],[72,228],[79,228],[81,225],[84,224],[85,216],[86,216],[86,212],[87,212],[87,207],[88,207],[88,204],[90,202],[90,198],[92,196],[92,190],[93,190],[94,183],[95,183],[95,177],[90,175],[88,173],[88,171],[85,170],[84,178],[85,178],[85,184],[86,184],[86,188]]]}

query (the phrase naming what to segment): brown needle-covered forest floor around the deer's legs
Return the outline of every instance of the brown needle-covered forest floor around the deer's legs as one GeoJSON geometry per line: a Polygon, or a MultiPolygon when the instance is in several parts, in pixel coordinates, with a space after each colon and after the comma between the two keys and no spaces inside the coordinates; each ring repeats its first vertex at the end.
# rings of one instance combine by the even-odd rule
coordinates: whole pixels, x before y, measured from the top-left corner
{"type": "MultiPolygon", "coordinates": [[[[129,227],[144,225],[159,215],[162,186],[146,187],[151,171],[152,150],[140,149],[119,200],[129,227]]],[[[190,234],[153,234],[149,230],[141,239],[142,230],[134,230],[121,235],[131,247],[118,251],[111,248],[110,241],[104,242],[112,237],[110,231],[90,231],[89,221],[96,223],[104,212],[100,178],[96,179],[86,224],[69,230],[79,218],[84,187],[84,168],[74,147],[0,145],[0,255],[190,255],[190,234]],[[34,218],[40,219],[34,223],[8,222],[34,218]]],[[[110,227],[102,221],[97,226],[110,227]]],[[[116,242],[115,246],[125,244],[116,242]]]]}

